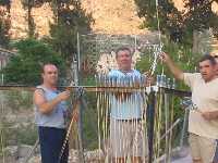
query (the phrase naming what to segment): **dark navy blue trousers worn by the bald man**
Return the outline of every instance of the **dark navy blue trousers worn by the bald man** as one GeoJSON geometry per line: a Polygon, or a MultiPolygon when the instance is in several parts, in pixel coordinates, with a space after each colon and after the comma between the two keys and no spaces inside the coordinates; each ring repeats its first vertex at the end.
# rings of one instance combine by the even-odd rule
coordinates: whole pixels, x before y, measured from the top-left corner
{"type": "Polygon", "coordinates": [[[66,143],[61,160],[61,148],[65,139],[66,130],[53,127],[38,127],[41,163],[68,163],[69,145],[66,143]]]}

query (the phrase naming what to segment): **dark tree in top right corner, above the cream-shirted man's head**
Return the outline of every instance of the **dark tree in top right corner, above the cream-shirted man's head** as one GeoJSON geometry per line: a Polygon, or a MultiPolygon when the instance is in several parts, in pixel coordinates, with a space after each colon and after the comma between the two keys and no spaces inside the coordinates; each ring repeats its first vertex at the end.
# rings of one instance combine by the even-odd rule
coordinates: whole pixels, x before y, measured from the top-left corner
{"type": "Polygon", "coordinates": [[[211,3],[215,0],[189,0],[184,1],[186,12],[183,14],[183,24],[185,25],[186,40],[192,40],[193,52],[198,51],[197,36],[198,32],[211,29],[214,36],[218,38],[218,15],[211,10],[211,3]]]}

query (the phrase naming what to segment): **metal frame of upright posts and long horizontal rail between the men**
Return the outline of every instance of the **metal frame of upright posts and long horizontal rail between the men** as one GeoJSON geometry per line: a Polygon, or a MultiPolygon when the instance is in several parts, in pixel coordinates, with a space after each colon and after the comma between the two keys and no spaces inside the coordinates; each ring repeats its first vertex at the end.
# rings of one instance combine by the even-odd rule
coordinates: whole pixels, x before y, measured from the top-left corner
{"type": "MultiPolygon", "coordinates": [[[[158,45],[154,45],[150,43],[147,40],[144,40],[142,43],[138,42],[137,37],[134,36],[134,49],[136,50],[142,50],[144,48],[147,48],[148,50],[156,48],[158,51],[161,49],[158,49],[158,45]]],[[[100,38],[101,39],[101,38],[100,38]]],[[[89,40],[89,41],[95,41],[98,43],[102,43],[105,40],[89,40]]],[[[107,41],[105,42],[107,45],[107,41]]],[[[117,47],[119,41],[113,42],[117,47]]],[[[73,76],[73,85],[72,86],[60,86],[61,89],[69,89],[73,92],[77,92],[77,98],[75,99],[75,102],[77,103],[84,103],[84,99],[83,99],[83,92],[87,91],[87,92],[132,92],[132,91],[141,91],[144,93],[149,95],[150,98],[150,103],[149,103],[149,121],[148,121],[148,125],[149,125],[149,136],[148,136],[148,140],[149,140],[149,163],[154,162],[155,160],[157,160],[158,158],[155,158],[155,146],[159,147],[159,141],[162,140],[164,138],[168,138],[168,134],[170,134],[172,131],[172,129],[174,128],[174,126],[177,126],[179,124],[179,120],[177,120],[171,126],[170,124],[167,125],[166,127],[166,131],[162,136],[159,136],[159,140],[157,142],[157,145],[155,145],[155,125],[157,125],[156,122],[156,113],[158,113],[157,111],[157,103],[158,103],[158,93],[164,93],[164,95],[174,95],[174,96],[179,96],[179,97],[190,97],[191,92],[187,91],[182,91],[182,90],[177,90],[174,88],[170,88],[167,87],[166,85],[161,85],[162,80],[158,80],[156,86],[150,86],[150,87],[108,87],[108,86],[81,86],[80,85],[80,70],[81,70],[81,54],[83,53],[83,51],[81,51],[81,39],[80,39],[80,35],[77,34],[77,54],[74,55],[73,59],[73,63],[72,63],[72,76],[73,76]]],[[[125,45],[125,43],[124,43],[125,45]]],[[[114,47],[112,48],[114,50],[114,47]]],[[[102,47],[101,47],[102,48],[102,47]]],[[[104,48],[102,48],[104,49],[104,48]]],[[[100,51],[100,52],[105,52],[105,51],[100,51]]],[[[156,65],[154,65],[156,66],[156,65]]],[[[155,67],[154,67],[155,68],[155,67]]],[[[153,71],[155,71],[153,68],[153,71]]],[[[154,72],[153,72],[154,73],[154,72]]],[[[157,77],[158,78],[158,77],[157,77]]],[[[34,91],[35,87],[29,87],[29,86],[15,86],[15,85],[1,85],[0,86],[0,90],[28,90],[28,91],[34,91]]],[[[167,96],[166,96],[167,97],[167,96]]],[[[168,99],[165,98],[167,101],[168,99]]],[[[165,103],[167,103],[167,101],[165,103]]],[[[85,105],[85,104],[83,104],[85,105]]],[[[81,104],[77,105],[78,106],[78,122],[77,122],[77,133],[78,133],[78,148],[80,148],[80,161],[81,163],[85,163],[85,158],[84,158],[84,147],[83,147],[83,129],[82,129],[82,125],[83,125],[83,112],[85,109],[82,108],[81,104]]],[[[166,106],[166,111],[169,108],[166,106]]],[[[169,114],[169,111],[167,111],[169,114]]],[[[71,120],[71,124],[74,123],[73,120],[71,120]]],[[[168,122],[166,122],[168,123],[168,122]]],[[[71,127],[71,125],[70,125],[71,127]]],[[[160,127],[160,126],[159,126],[160,127]]],[[[156,128],[157,129],[157,128],[156,128]]],[[[71,130],[71,128],[69,128],[69,130],[71,130]]],[[[66,137],[68,140],[69,136],[66,137]]],[[[36,141],[34,148],[37,147],[38,141],[36,141]]],[[[170,148],[170,147],[169,147],[170,148]]],[[[32,155],[34,149],[32,149],[32,151],[28,153],[27,158],[26,158],[26,162],[29,159],[29,156],[32,155]]],[[[167,158],[170,156],[170,152],[168,152],[167,158]]],[[[169,159],[166,159],[169,160],[169,159]]]]}

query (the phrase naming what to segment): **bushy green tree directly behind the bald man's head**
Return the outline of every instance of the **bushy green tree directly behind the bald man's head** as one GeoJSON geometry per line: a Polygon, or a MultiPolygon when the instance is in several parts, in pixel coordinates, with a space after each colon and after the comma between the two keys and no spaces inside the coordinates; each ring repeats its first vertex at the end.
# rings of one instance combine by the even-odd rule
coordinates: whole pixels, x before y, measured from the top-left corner
{"type": "Polygon", "coordinates": [[[35,39],[25,39],[16,42],[17,54],[10,59],[3,68],[5,83],[38,85],[40,83],[41,65],[53,63],[60,68],[61,77],[64,76],[64,62],[51,48],[35,39]]]}

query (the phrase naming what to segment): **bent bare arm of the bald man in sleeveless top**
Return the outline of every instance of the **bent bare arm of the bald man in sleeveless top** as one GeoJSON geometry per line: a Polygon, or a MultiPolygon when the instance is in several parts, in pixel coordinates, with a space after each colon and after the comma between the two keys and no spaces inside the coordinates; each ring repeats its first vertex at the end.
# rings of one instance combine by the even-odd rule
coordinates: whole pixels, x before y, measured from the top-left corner
{"type": "Polygon", "coordinates": [[[63,91],[59,93],[53,100],[47,101],[44,91],[41,89],[36,89],[34,92],[34,103],[38,108],[39,112],[43,114],[49,114],[56,108],[58,103],[66,100],[70,97],[70,91],[63,91]]]}

